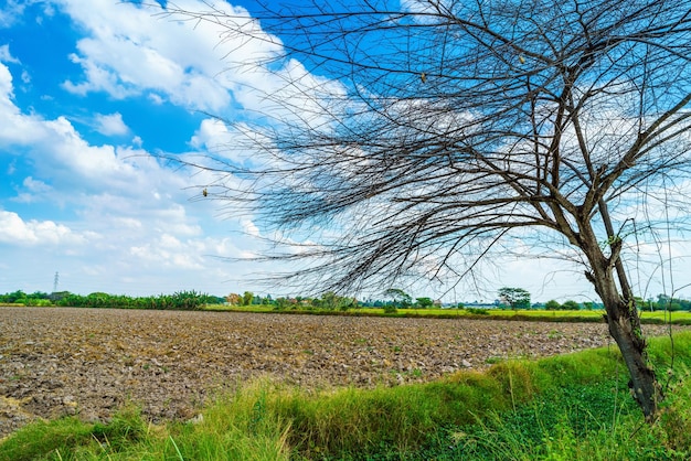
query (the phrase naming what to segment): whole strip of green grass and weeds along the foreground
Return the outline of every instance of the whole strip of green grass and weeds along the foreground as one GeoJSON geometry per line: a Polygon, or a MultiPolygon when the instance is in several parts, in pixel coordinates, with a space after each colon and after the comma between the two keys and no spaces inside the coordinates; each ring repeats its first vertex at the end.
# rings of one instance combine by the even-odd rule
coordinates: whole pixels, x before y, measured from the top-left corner
{"type": "Polygon", "coordinates": [[[646,460],[691,457],[691,332],[650,341],[663,384],[646,425],[615,349],[508,361],[421,385],[305,390],[238,385],[194,422],[152,425],[125,408],[107,425],[38,422],[0,460],[646,460]]]}

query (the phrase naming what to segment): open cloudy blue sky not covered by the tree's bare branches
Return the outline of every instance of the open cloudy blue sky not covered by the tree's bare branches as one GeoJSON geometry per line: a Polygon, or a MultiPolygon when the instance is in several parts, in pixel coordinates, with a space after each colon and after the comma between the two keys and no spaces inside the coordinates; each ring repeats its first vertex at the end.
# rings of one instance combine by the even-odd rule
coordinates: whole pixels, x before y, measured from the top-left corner
{"type": "MultiPolygon", "coordinates": [[[[266,110],[252,87],[283,84],[227,62],[261,60],[279,44],[220,43],[213,25],[115,0],[0,1],[0,292],[51,291],[59,272],[59,290],[84,294],[264,293],[247,280],[264,268],[222,260],[259,251],[252,236],[262,229],[202,200],[209,178],[157,156],[232,142],[205,114],[242,120],[266,110]]],[[[559,264],[501,267],[486,293],[445,300],[487,299],[502,286],[535,300],[593,297],[559,264]]]]}

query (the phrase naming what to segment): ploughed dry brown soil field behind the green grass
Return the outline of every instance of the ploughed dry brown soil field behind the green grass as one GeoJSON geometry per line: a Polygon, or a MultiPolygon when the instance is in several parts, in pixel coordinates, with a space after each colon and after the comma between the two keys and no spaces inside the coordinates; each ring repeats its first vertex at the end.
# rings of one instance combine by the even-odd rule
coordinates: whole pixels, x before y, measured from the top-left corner
{"type": "Polygon", "coordinates": [[[108,420],[127,401],[155,421],[187,419],[262,375],[398,385],[606,344],[594,323],[0,308],[0,438],[35,418],[108,420]]]}

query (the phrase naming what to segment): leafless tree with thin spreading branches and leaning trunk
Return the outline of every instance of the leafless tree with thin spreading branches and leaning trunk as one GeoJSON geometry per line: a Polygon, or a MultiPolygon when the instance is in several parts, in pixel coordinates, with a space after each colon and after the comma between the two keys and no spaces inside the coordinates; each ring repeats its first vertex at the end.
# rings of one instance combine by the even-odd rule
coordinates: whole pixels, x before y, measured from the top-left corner
{"type": "Polygon", "coordinates": [[[167,10],[284,50],[252,63],[285,86],[226,147],[254,157],[199,163],[219,174],[210,195],[313,242],[268,257],[312,261],[294,276],[325,290],[468,277],[515,242],[561,248],[652,419],[662,395],[626,255],[688,216],[691,2],[270,3],[254,19],[167,10]]]}

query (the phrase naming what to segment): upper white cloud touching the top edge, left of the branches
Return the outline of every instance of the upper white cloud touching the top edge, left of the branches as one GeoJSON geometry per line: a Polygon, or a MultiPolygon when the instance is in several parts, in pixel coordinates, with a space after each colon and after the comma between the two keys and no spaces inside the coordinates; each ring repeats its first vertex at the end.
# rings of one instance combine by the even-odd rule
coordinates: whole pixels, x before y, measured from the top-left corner
{"type": "MultiPolygon", "coordinates": [[[[237,103],[276,119],[320,114],[322,96],[342,94],[336,82],[311,75],[297,61],[269,71],[265,63],[283,56],[281,42],[265,33],[248,12],[226,2],[215,7],[227,17],[224,25],[241,29],[252,39],[228,35],[224,25],[184,17],[157,17],[161,10],[109,0],[61,0],[61,6],[88,36],[77,42],[70,58],[83,69],[81,81],[66,81],[71,93],[105,92],[118,99],[146,96],[157,104],[170,101],[192,110],[221,114],[237,103]],[[270,95],[269,98],[266,96],[270,95]],[[299,103],[298,103],[299,101],[299,103]]],[[[203,11],[199,0],[176,2],[181,10],[203,11]]]]}

